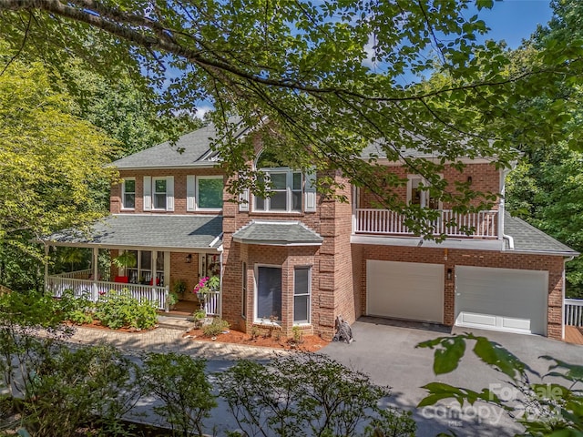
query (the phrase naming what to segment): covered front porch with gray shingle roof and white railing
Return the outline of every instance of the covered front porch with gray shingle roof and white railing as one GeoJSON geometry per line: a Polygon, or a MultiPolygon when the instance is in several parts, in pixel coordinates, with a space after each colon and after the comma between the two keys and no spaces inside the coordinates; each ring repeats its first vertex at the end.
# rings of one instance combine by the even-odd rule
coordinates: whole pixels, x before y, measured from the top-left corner
{"type": "MultiPolygon", "coordinates": [[[[199,278],[222,277],[221,221],[216,216],[119,215],[95,224],[87,234],[55,234],[43,241],[51,260],[45,290],[56,298],[71,290],[92,301],[109,290],[128,290],[164,311],[171,309],[173,294],[196,303],[192,289],[199,278]],[[148,234],[151,228],[157,229],[155,234],[148,234]],[[85,260],[70,266],[56,262],[64,251],[69,259],[85,260]]],[[[220,290],[206,296],[208,315],[221,314],[220,290]]]]}

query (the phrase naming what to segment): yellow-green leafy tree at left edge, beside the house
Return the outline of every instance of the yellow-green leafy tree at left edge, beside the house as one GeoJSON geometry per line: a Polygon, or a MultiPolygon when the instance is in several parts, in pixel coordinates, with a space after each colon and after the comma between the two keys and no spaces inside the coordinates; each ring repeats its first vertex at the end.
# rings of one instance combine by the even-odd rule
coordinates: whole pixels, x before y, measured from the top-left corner
{"type": "MultiPolygon", "coordinates": [[[[5,52],[0,57],[8,62],[5,52]]],[[[28,266],[36,276],[32,283],[20,274],[28,269],[26,257],[41,258],[35,240],[58,229],[82,228],[106,212],[94,192],[116,175],[104,167],[114,142],[71,116],[72,105],[70,97],[54,91],[38,63],[14,61],[0,75],[0,279],[5,285],[38,283],[37,261],[36,271],[28,266]],[[25,262],[19,267],[14,259],[25,262]]]]}

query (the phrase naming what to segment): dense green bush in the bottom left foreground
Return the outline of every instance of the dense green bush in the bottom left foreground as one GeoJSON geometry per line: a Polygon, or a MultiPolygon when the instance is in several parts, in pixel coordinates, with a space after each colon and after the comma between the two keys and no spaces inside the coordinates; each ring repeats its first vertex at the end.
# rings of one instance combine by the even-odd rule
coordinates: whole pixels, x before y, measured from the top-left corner
{"type": "Polygon", "coordinates": [[[141,395],[137,366],[112,346],[70,351],[38,340],[26,361],[23,424],[33,435],[76,435],[79,428],[113,426],[141,395]]]}

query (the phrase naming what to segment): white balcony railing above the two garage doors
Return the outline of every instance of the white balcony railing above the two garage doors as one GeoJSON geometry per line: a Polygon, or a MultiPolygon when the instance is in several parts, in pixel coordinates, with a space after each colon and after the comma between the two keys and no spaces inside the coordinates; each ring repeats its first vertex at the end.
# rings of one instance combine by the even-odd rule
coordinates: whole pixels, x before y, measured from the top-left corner
{"type": "MultiPolygon", "coordinates": [[[[498,211],[479,211],[457,214],[450,209],[440,209],[440,217],[432,223],[435,234],[448,237],[468,237],[465,229],[474,229],[469,237],[497,238],[498,211]],[[448,226],[452,220],[455,226],[448,226]]],[[[357,234],[414,235],[404,224],[404,215],[388,209],[358,208],[354,232],[357,234]]]]}

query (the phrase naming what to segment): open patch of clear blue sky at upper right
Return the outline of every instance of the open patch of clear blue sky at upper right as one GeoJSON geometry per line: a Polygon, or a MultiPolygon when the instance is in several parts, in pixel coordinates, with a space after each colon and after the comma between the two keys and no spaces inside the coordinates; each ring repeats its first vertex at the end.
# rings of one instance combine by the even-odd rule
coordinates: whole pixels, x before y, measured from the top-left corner
{"type": "MultiPolygon", "coordinates": [[[[506,40],[510,48],[520,46],[537,25],[546,25],[552,15],[547,0],[504,0],[496,1],[492,9],[482,9],[479,16],[492,30],[487,39],[506,40]]],[[[468,11],[466,18],[476,14],[468,11]]]]}

